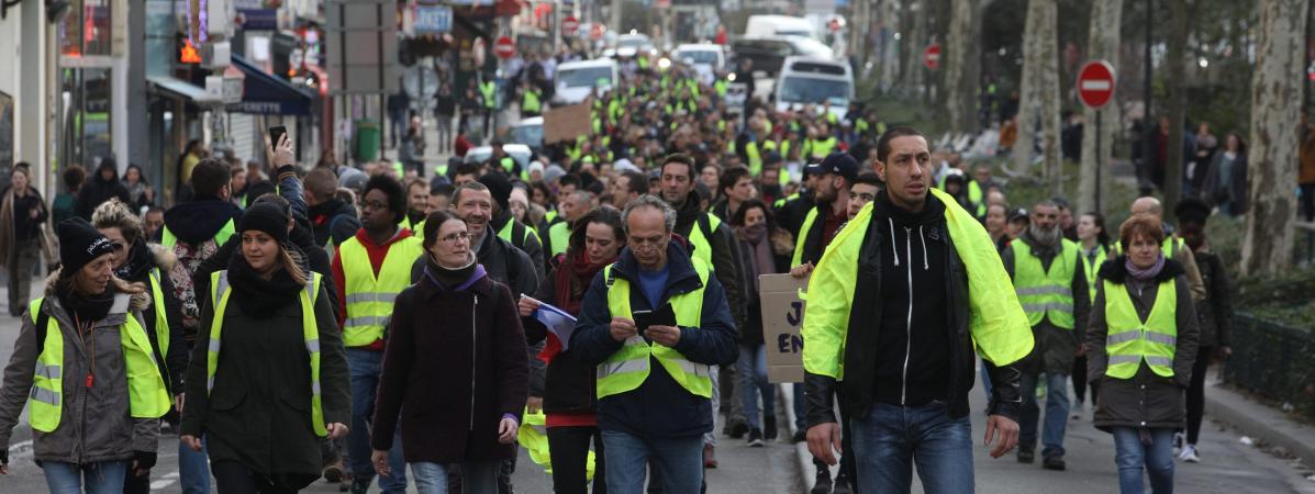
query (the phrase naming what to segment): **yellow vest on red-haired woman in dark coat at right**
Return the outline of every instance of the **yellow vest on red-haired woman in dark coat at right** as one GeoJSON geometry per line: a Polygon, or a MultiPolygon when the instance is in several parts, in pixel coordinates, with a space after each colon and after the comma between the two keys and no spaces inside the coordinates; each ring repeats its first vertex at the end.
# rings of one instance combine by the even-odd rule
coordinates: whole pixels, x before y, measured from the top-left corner
{"type": "Polygon", "coordinates": [[[1155,306],[1141,322],[1126,285],[1105,282],[1105,374],[1127,380],[1144,360],[1161,377],[1173,377],[1173,353],[1178,348],[1178,292],[1173,280],[1160,282],[1155,306]]]}

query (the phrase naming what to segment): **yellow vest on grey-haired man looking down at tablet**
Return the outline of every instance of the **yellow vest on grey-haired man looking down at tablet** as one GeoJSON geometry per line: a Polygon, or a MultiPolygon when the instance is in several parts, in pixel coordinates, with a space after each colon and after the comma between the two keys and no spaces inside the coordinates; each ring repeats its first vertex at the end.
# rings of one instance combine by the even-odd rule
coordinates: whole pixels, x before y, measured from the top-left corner
{"type": "MultiPolygon", "coordinates": [[[[698,289],[671,297],[668,301],[681,331],[700,331],[704,286],[707,286],[707,273],[711,271],[697,258],[690,261],[698,273],[698,289]]],[[[608,310],[614,317],[634,319],[630,311],[630,281],[613,276],[613,267],[609,264],[604,268],[604,280],[608,281],[608,310]]],[[[690,394],[713,397],[711,367],[689,361],[675,348],[650,344],[643,336],[635,335],[627,338],[621,349],[598,365],[598,399],[638,389],[648,378],[654,359],[690,394]]]]}

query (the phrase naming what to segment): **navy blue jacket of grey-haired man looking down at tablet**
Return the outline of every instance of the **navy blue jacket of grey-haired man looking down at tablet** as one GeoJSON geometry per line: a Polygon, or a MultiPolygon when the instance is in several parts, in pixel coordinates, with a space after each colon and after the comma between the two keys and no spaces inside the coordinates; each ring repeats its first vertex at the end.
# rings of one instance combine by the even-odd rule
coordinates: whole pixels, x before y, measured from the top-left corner
{"type": "MultiPolygon", "coordinates": [[[[700,288],[698,273],[694,272],[686,247],[679,239],[672,239],[667,246],[667,267],[671,273],[661,297],[663,303],[672,296],[700,288]]],[[[639,264],[629,247],[621,251],[611,272],[634,286],[630,290],[630,306],[634,310],[654,309],[639,288],[639,264]]],[[[608,286],[604,272],[600,271],[580,305],[580,317],[571,336],[571,353],[592,365],[608,360],[622,347],[622,342],[611,338],[610,323],[608,286]]],[[[698,364],[731,365],[739,356],[738,342],[739,334],[730,306],[726,305],[726,293],[717,277],[709,276],[707,286],[704,288],[700,327],[697,331],[681,331],[676,351],[698,364]]],[[[686,392],[656,360],[651,359],[650,369],[648,378],[638,389],[598,402],[598,428],[640,438],[688,438],[710,432],[711,401],[686,392]]]]}

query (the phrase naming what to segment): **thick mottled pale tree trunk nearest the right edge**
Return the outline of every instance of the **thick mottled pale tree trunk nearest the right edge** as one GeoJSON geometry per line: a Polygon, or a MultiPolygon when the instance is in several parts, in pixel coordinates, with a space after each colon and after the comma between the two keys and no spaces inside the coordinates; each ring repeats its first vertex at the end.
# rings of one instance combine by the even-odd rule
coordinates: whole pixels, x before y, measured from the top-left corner
{"type": "Polygon", "coordinates": [[[1301,130],[1306,3],[1262,0],[1251,83],[1249,205],[1241,244],[1243,276],[1277,276],[1293,264],[1297,147],[1301,130]]]}

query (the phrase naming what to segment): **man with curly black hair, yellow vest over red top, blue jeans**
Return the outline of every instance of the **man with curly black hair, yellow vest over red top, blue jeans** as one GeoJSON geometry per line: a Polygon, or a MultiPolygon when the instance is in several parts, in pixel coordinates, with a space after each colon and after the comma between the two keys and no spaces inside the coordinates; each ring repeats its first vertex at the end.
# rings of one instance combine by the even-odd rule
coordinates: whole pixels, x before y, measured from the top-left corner
{"type": "MultiPolygon", "coordinates": [[[[375,478],[370,462],[370,414],[384,360],[384,328],[393,310],[393,298],[410,285],[412,264],[423,248],[419,236],[397,223],[406,215],[406,192],[397,180],[376,175],[366,184],[360,200],[362,229],[343,242],[333,258],[338,294],[338,323],[347,367],[351,369],[351,426],[347,451],[352,472],[352,493],[364,493],[375,478]]],[[[401,440],[389,453],[393,474],[379,480],[384,493],[404,493],[401,440]]]]}

